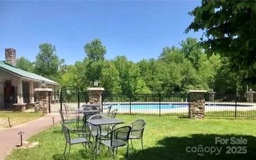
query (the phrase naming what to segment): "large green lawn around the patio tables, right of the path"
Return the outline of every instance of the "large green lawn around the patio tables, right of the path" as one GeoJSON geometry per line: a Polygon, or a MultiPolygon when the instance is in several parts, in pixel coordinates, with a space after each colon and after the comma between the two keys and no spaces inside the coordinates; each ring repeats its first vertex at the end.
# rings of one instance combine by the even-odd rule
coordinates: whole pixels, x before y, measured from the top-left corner
{"type": "MultiPolygon", "coordinates": [[[[256,159],[256,128],[255,119],[205,119],[190,120],[171,116],[135,116],[118,115],[126,124],[145,119],[147,122],[144,136],[145,152],[142,153],[139,141],[133,141],[134,149],[130,148],[128,159],[256,159]],[[226,147],[215,145],[215,137],[240,137],[247,139],[246,154],[226,154],[226,147]],[[220,155],[197,155],[187,153],[187,147],[193,146],[222,147],[220,155]]],[[[29,139],[38,141],[39,146],[29,149],[15,149],[6,159],[63,159],[65,139],[60,132],[60,125],[45,130],[29,139]]],[[[230,145],[234,146],[234,145],[230,145]]],[[[125,159],[125,147],[118,150],[116,159],[125,159]]],[[[92,159],[82,145],[71,147],[66,159],[92,159]]],[[[111,159],[106,147],[103,147],[98,159],[111,159]]]]}

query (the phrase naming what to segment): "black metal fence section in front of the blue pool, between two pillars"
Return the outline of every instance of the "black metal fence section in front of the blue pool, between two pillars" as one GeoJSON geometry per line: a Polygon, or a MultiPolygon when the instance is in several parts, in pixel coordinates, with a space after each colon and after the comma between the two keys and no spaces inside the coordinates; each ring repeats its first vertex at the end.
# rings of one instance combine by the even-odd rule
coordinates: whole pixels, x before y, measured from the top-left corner
{"type": "Polygon", "coordinates": [[[188,94],[102,94],[102,105],[120,114],[188,116],[188,94]]]}

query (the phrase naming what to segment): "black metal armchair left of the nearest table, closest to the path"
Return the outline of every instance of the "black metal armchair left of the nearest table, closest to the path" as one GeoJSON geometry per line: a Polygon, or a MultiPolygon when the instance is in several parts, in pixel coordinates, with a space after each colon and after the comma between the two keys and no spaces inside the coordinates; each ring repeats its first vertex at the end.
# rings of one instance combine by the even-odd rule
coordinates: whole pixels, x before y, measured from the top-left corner
{"type": "Polygon", "coordinates": [[[68,144],[69,144],[69,153],[70,153],[71,145],[84,144],[86,151],[87,151],[87,147],[86,147],[87,144],[91,144],[91,148],[92,148],[92,142],[90,141],[90,139],[91,139],[91,137],[93,138],[93,136],[91,133],[85,133],[83,129],[70,129],[63,123],[61,123],[61,125],[62,125],[62,131],[63,131],[65,139],[66,139],[66,146],[65,146],[64,153],[63,153],[64,156],[66,154],[66,149],[67,149],[68,144]],[[71,139],[70,133],[77,134],[78,136],[82,135],[82,137],[71,139]],[[89,137],[89,138],[86,138],[86,137],[89,137]]]}

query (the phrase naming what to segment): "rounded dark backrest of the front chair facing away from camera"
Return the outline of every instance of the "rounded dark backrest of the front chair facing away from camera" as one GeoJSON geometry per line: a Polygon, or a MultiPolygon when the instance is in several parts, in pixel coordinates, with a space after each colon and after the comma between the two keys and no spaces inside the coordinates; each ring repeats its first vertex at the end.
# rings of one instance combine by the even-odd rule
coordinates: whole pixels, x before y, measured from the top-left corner
{"type": "Polygon", "coordinates": [[[114,140],[121,140],[124,142],[128,142],[129,140],[129,136],[130,136],[130,132],[131,132],[131,127],[130,126],[123,126],[123,127],[119,127],[113,131],[111,131],[110,133],[110,140],[111,140],[111,146],[114,146],[115,144],[113,144],[114,140]]]}

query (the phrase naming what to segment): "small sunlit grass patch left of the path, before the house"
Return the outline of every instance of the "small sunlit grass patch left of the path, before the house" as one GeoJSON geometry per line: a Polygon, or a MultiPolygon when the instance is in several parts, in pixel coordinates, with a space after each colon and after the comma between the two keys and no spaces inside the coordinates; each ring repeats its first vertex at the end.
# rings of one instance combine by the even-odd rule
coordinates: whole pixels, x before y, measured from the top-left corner
{"type": "Polygon", "coordinates": [[[0,130],[9,127],[8,117],[11,126],[25,123],[31,120],[38,119],[42,113],[22,113],[22,112],[0,112],[0,130]]]}

